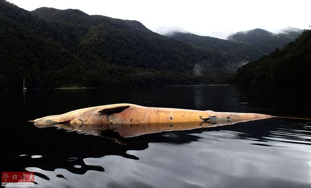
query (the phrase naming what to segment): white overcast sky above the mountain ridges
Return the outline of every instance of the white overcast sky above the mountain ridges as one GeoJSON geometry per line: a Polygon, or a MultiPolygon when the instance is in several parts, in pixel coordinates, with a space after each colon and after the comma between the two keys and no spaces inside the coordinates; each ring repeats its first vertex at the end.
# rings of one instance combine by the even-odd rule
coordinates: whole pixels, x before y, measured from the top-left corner
{"type": "Polygon", "coordinates": [[[28,11],[79,9],[88,15],[138,20],[164,34],[171,30],[225,38],[255,28],[272,32],[310,29],[311,0],[8,0],[28,11]]]}

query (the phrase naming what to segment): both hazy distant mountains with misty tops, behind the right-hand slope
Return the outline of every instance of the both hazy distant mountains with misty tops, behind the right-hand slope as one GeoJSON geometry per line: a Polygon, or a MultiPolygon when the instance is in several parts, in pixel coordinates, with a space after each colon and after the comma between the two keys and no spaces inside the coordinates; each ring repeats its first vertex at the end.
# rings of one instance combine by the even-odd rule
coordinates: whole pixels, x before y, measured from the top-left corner
{"type": "MultiPolygon", "coordinates": [[[[181,42],[190,44],[197,49],[221,52],[231,62],[249,62],[268,55],[276,48],[284,47],[294,41],[302,32],[300,29],[289,28],[282,33],[273,33],[262,29],[240,31],[230,35],[228,40],[208,36],[199,36],[187,32],[171,32],[167,36],[181,42]]],[[[239,63],[230,63],[231,65],[239,63]]]]}

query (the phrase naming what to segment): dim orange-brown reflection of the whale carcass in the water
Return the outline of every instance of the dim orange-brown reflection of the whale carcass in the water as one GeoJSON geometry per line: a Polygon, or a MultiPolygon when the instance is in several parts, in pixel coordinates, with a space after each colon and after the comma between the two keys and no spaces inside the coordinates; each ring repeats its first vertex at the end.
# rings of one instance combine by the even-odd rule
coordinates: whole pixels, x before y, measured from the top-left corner
{"type": "MultiPolygon", "coordinates": [[[[64,128],[68,131],[77,131],[85,133],[87,135],[96,135],[103,137],[111,137],[111,131],[118,133],[116,136],[123,138],[137,137],[145,134],[166,132],[166,131],[181,131],[191,130],[202,127],[216,127],[223,125],[232,125],[240,122],[252,121],[254,119],[244,120],[226,120],[226,121],[209,121],[209,122],[181,122],[181,123],[151,123],[151,124],[111,124],[111,125],[96,125],[96,124],[84,124],[84,125],[69,125],[69,124],[57,124],[52,125],[59,128],[64,128]],[[107,134],[108,133],[108,134],[107,134]]],[[[49,127],[36,125],[37,127],[49,127]]],[[[50,125],[51,126],[51,125],[50,125]]]]}

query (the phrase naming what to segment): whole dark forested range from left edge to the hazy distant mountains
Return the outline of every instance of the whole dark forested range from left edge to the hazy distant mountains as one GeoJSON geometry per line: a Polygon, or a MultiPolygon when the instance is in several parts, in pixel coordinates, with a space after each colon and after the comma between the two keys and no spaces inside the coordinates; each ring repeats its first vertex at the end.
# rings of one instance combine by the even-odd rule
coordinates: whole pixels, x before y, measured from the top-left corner
{"type": "Polygon", "coordinates": [[[22,88],[23,78],[28,88],[232,83],[241,63],[263,55],[242,42],[187,42],[138,21],[73,9],[29,12],[5,0],[0,41],[0,90],[22,88]]]}

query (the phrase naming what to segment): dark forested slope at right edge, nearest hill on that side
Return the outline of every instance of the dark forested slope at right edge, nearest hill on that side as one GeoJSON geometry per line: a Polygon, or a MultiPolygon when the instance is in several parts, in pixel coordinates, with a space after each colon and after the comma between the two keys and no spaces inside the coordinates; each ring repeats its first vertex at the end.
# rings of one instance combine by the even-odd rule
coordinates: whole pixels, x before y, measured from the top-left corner
{"type": "Polygon", "coordinates": [[[311,30],[307,30],[284,48],[245,64],[234,77],[240,85],[310,85],[310,72],[311,30]]]}

